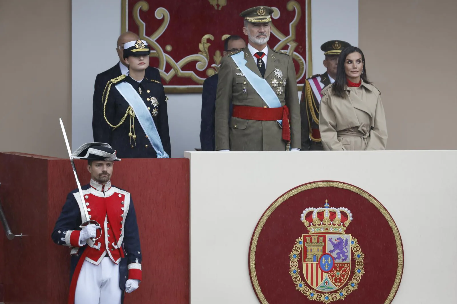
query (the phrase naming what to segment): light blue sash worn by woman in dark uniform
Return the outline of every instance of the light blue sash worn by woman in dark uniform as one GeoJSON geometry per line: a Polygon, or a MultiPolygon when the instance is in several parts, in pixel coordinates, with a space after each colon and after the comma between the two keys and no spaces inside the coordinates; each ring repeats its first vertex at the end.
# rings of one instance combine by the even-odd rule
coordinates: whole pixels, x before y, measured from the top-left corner
{"type": "Polygon", "coordinates": [[[160,140],[160,136],[157,132],[157,128],[155,127],[151,113],[149,112],[148,107],[146,107],[144,101],[141,99],[137,91],[133,89],[133,86],[127,82],[121,82],[120,84],[117,84],[116,89],[133,108],[135,116],[140,122],[144,133],[146,133],[149,142],[151,143],[155,152],[157,152],[157,158],[169,158],[168,154],[164,151],[164,146],[162,146],[162,141],[160,140]]]}

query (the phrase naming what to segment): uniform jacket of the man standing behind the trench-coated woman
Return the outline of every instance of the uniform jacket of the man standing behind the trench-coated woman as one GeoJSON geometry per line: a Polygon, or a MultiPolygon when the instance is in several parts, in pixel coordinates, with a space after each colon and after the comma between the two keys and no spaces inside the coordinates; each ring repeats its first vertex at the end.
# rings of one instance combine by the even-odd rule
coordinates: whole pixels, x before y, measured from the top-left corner
{"type": "Polygon", "coordinates": [[[313,86],[319,85],[324,89],[330,84],[329,75],[325,72],[322,75],[314,75],[306,79],[303,86],[302,97],[300,101],[300,115],[302,119],[302,150],[323,150],[319,134],[319,104],[321,95],[316,96],[313,86]],[[314,136],[313,136],[314,130],[314,136]]]}

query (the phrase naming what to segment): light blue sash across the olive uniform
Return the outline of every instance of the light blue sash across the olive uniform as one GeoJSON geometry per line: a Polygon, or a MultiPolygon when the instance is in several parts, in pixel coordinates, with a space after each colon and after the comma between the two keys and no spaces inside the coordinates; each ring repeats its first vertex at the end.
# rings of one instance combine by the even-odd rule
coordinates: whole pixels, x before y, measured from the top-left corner
{"type": "MultiPolygon", "coordinates": [[[[247,61],[246,59],[244,59],[244,52],[239,52],[230,57],[236,63],[241,72],[243,72],[244,77],[248,79],[251,86],[255,89],[257,94],[260,95],[263,101],[265,101],[269,108],[282,107],[281,101],[279,101],[278,96],[276,95],[275,91],[273,91],[270,84],[268,84],[268,82],[265,79],[260,78],[259,75],[251,71],[250,68],[246,67],[245,64],[247,63],[247,61]]],[[[278,122],[282,126],[282,120],[279,120],[278,122]]]]}

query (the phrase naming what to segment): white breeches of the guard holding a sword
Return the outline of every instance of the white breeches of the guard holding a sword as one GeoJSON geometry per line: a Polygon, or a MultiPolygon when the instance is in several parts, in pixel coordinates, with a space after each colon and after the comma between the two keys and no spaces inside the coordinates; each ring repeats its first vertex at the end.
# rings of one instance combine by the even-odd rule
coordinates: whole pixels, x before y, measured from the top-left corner
{"type": "Polygon", "coordinates": [[[120,304],[119,265],[104,257],[98,265],[84,261],[76,284],[74,304],[120,304]]]}

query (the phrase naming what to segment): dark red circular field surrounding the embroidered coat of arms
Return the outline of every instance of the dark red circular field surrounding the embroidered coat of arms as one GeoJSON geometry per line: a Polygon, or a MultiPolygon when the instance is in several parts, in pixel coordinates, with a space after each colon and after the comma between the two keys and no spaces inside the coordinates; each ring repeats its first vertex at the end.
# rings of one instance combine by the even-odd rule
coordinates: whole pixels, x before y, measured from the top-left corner
{"type": "MultiPolygon", "coordinates": [[[[255,248],[255,273],[260,290],[269,304],[320,303],[308,300],[307,296],[296,290],[289,274],[289,254],[295,240],[303,234],[308,234],[308,229],[300,220],[303,210],[324,207],[326,199],[329,200],[330,207],[351,210],[353,220],[345,233],[358,240],[365,255],[365,273],[358,288],[344,300],[332,303],[377,304],[384,303],[388,298],[397,275],[398,253],[395,237],[386,217],[369,200],[351,190],[318,187],[301,191],[282,202],[268,217],[260,231],[255,248]]],[[[354,262],[351,254],[351,274],[340,289],[344,288],[354,275],[354,262]]],[[[302,258],[298,263],[300,276],[310,288],[303,277],[302,258]]]]}

